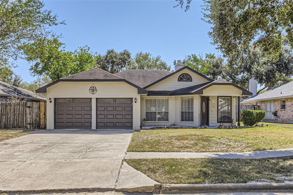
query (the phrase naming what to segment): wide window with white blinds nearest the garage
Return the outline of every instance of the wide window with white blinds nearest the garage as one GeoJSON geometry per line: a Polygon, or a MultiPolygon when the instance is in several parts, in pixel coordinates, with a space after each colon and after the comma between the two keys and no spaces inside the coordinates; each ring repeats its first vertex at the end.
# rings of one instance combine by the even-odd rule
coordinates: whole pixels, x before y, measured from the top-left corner
{"type": "Polygon", "coordinates": [[[146,98],[146,120],[168,121],[169,98],[146,98]]]}

